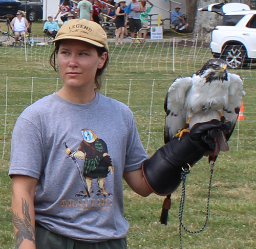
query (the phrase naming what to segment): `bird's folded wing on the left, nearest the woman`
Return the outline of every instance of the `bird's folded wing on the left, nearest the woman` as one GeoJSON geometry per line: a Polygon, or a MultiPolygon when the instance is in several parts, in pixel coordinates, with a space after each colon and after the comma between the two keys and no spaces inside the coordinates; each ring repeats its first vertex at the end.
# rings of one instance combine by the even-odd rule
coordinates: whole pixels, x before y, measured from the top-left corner
{"type": "Polygon", "coordinates": [[[192,86],[191,77],[182,77],[174,80],[170,85],[164,101],[166,112],[164,127],[164,142],[172,140],[177,130],[184,127],[186,123],[186,110],[184,107],[186,93],[192,86]]]}

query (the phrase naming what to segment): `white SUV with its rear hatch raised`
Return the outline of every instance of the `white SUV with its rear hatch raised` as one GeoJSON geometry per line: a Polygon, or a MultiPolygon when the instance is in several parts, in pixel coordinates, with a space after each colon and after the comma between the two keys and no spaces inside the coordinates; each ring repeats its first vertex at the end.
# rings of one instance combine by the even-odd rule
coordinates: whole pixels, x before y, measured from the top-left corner
{"type": "MultiPolygon", "coordinates": [[[[256,63],[256,10],[245,4],[213,4],[202,11],[224,12],[223,22],[215,27],[211,35],[210,48],[215,58],[222,58],[231,68],[241,68],[256,63]],[[240,5],[240,11],[227,12],[230,5],[240,5]],[[241,8],[240,8],[241,9],[241,8]],[[249,9],[249,10],[248,10],[249,9]],[[219,10],[219,11],[216,11],[219,10]]],[[[236,8],[232,8],[232,10],[236,8]]],[[[239,9],[239,8],[237,8],[239,9]]],[[[222,12],[222,13],[223,13],[222,12]]]]}

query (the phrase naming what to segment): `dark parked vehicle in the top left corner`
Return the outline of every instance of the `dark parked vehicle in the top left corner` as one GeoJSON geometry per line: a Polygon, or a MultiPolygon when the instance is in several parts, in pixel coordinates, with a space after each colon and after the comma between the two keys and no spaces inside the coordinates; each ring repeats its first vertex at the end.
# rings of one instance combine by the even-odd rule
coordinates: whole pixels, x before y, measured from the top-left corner
{"type": "Polygon", "coordinates": [[[13,19],[18,10],[21,9],[21,3],[16,0],[0,0],[0,19],[13,19]]]}

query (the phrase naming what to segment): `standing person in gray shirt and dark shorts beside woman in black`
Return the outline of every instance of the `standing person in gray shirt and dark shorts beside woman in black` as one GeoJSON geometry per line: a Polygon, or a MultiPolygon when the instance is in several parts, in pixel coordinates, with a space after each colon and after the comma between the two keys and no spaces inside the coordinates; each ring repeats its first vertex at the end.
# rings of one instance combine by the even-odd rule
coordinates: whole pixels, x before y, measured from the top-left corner
{"type": "MultiPolygon", "coordinates": [[[[137,0],[132,0],[130,3],[132,5],[131,12],[129,13],[129,29],[133,43],[135,42],[135,33],[141,29],[140,13],[143,12],[142,6],[137,0]]],[[[142,35],[139,33],[139,38],[142,38],[142,35]]]]}

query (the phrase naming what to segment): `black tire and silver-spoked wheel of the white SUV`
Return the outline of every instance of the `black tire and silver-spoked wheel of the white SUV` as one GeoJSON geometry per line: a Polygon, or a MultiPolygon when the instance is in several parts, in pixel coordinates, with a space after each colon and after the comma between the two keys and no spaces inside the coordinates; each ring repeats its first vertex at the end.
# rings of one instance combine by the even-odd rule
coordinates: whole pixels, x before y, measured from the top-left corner
{"type": "Polygon", "coordinates": [[[223,59],[230,68],[242,68],[248,64],[246,49],[243,45],[230,45],[225,47],[223,59]]]}

